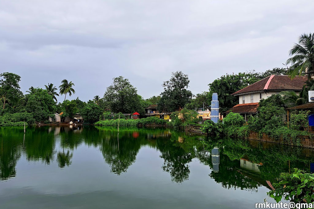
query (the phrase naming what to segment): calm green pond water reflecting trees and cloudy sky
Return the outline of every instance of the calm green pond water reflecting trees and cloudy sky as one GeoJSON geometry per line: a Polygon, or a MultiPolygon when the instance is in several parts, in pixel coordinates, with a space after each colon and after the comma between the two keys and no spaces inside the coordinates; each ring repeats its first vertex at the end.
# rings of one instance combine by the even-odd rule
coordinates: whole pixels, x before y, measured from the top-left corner
{"type": "Polygon", "coordinates": [[[0,127],[0,208],[254,208],[313,156],[168,129],[0,127]]]}

